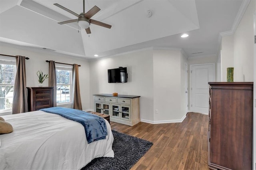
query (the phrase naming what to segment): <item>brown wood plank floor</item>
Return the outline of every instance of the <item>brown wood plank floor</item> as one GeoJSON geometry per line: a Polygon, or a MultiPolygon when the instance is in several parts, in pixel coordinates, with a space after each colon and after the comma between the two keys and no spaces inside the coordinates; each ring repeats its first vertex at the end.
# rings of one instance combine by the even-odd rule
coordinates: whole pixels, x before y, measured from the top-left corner
{"type": "Polygon", "coordinates": [[[154,143],[132,170],[208,170],[208,115],[188,113],[182,123],[133,127],[111,122],[111,128],[154,143]]]}

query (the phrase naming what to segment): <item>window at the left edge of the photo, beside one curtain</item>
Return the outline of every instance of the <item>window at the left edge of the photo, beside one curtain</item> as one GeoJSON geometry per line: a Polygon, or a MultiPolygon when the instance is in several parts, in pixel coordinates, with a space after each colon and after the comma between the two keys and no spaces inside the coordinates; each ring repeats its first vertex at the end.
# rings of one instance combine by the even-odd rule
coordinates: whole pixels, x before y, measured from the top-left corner
{"type": "Polygon", "coordinates": [[[0,113],[12,111],[16,61],[8,58],[0,57],[0,113]]]}

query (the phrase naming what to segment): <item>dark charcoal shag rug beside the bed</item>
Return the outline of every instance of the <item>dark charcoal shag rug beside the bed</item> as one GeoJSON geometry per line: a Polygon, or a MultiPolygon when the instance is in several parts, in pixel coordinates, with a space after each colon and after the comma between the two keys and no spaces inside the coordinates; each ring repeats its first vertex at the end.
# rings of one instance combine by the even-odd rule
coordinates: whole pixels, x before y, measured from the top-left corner
{"type": "Polygon", "coordinates": [[[95,158],[81,170],[129,170],[151,148],[152,142],[112,130],[114,158],[95,158]]]}

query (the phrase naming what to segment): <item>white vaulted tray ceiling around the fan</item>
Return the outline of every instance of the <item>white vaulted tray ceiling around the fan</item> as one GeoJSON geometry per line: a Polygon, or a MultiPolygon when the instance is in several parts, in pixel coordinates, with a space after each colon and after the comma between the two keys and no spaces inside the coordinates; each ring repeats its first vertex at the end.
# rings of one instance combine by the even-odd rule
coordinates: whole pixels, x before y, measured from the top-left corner
{"type": "Polygon", "coordinates": [[[220,33],[232,30],[244,2],[86,0],[85,12],[94,5],[101,9],[92,19],[112,25],[108,29],[91,24],[90,36],[85,30],[78,32],[77,23],[57,24],[77,17],[54,3],[83,12],[82,0],[0,0],[0,42],[85,58],[147,47],[181,48],[188,57],[216,56],[220,33]],[[189,37],[180,38],[183,33],[189,37]]]}

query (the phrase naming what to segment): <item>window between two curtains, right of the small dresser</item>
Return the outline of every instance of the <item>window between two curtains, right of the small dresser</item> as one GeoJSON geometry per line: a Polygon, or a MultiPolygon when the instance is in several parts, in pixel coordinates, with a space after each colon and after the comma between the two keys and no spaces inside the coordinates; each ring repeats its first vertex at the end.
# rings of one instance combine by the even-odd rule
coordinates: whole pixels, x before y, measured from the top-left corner
{"type": "Polygon", "coordinates": [[[56,64],[57,105],[72,103],[72,68],[73,66],[56,64]]]}

